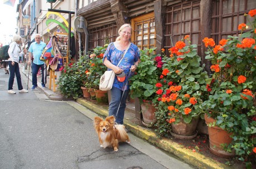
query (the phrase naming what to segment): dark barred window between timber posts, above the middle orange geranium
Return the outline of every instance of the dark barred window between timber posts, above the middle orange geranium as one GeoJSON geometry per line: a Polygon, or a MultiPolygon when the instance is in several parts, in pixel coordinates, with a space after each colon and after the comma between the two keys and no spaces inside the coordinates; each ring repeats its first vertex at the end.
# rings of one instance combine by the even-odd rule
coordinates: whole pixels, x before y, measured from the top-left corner
{"type": "Polygon", "coordinates": [[[200,1],[186,2],[166,8],[164,48],[173,47],[185,35],[190,36],[192,44],[201,46],[200,1]]]}

